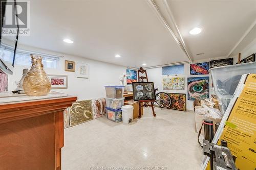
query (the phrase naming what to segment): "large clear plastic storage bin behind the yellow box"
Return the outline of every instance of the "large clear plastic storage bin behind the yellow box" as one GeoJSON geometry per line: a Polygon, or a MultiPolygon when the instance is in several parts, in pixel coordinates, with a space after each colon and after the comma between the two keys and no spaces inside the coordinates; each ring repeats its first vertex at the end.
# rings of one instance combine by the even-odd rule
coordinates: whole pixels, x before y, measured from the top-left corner
{"type": "Polygon", "coordinates": [[[256,62],[211,68],[209,73],[221,111],[225,113],[242,75],[256,73],[256,62]]]}

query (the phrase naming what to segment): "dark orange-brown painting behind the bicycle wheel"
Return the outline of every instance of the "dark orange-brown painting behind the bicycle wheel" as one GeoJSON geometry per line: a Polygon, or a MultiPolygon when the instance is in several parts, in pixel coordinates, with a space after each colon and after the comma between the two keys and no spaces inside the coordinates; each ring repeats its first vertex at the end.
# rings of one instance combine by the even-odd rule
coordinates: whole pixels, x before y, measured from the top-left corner
{"type": "Polygon", "coordinates": [[[169,109],[186,111],[186,94],[167,93],[170,96],[171,104],[169,109]]]}

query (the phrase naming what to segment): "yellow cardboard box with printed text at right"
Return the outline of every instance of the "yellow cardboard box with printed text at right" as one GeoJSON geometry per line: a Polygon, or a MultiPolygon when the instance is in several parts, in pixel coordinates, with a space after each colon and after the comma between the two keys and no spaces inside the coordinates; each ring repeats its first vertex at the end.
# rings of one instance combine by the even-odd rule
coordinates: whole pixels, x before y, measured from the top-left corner
{"type": "Polygon", "coordinates": [[[249,74],[218,141],[226,140],[240,170],[256,169],[256,75],[249,74]]]}

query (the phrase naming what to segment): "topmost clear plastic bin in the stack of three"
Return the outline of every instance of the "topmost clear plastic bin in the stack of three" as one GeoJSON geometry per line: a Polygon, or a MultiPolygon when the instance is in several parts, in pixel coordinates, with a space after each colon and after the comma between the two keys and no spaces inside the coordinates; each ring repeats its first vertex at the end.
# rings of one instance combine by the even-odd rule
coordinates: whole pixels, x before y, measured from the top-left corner
{"type": "Polygon", "coordinates": [[[106,98],[120,99],[123,98],[124,86],[105,86],[106,98]]]}

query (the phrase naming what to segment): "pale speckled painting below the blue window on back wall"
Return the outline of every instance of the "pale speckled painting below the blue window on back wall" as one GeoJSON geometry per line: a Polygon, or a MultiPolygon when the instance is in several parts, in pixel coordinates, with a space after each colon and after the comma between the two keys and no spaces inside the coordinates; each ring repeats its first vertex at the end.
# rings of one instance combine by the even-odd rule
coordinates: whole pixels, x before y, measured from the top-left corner
{"type": "Polygon", "coordinates": [[[163,90],[184,90],[185,78],[184,77],[164,77],[163,90]]]}

